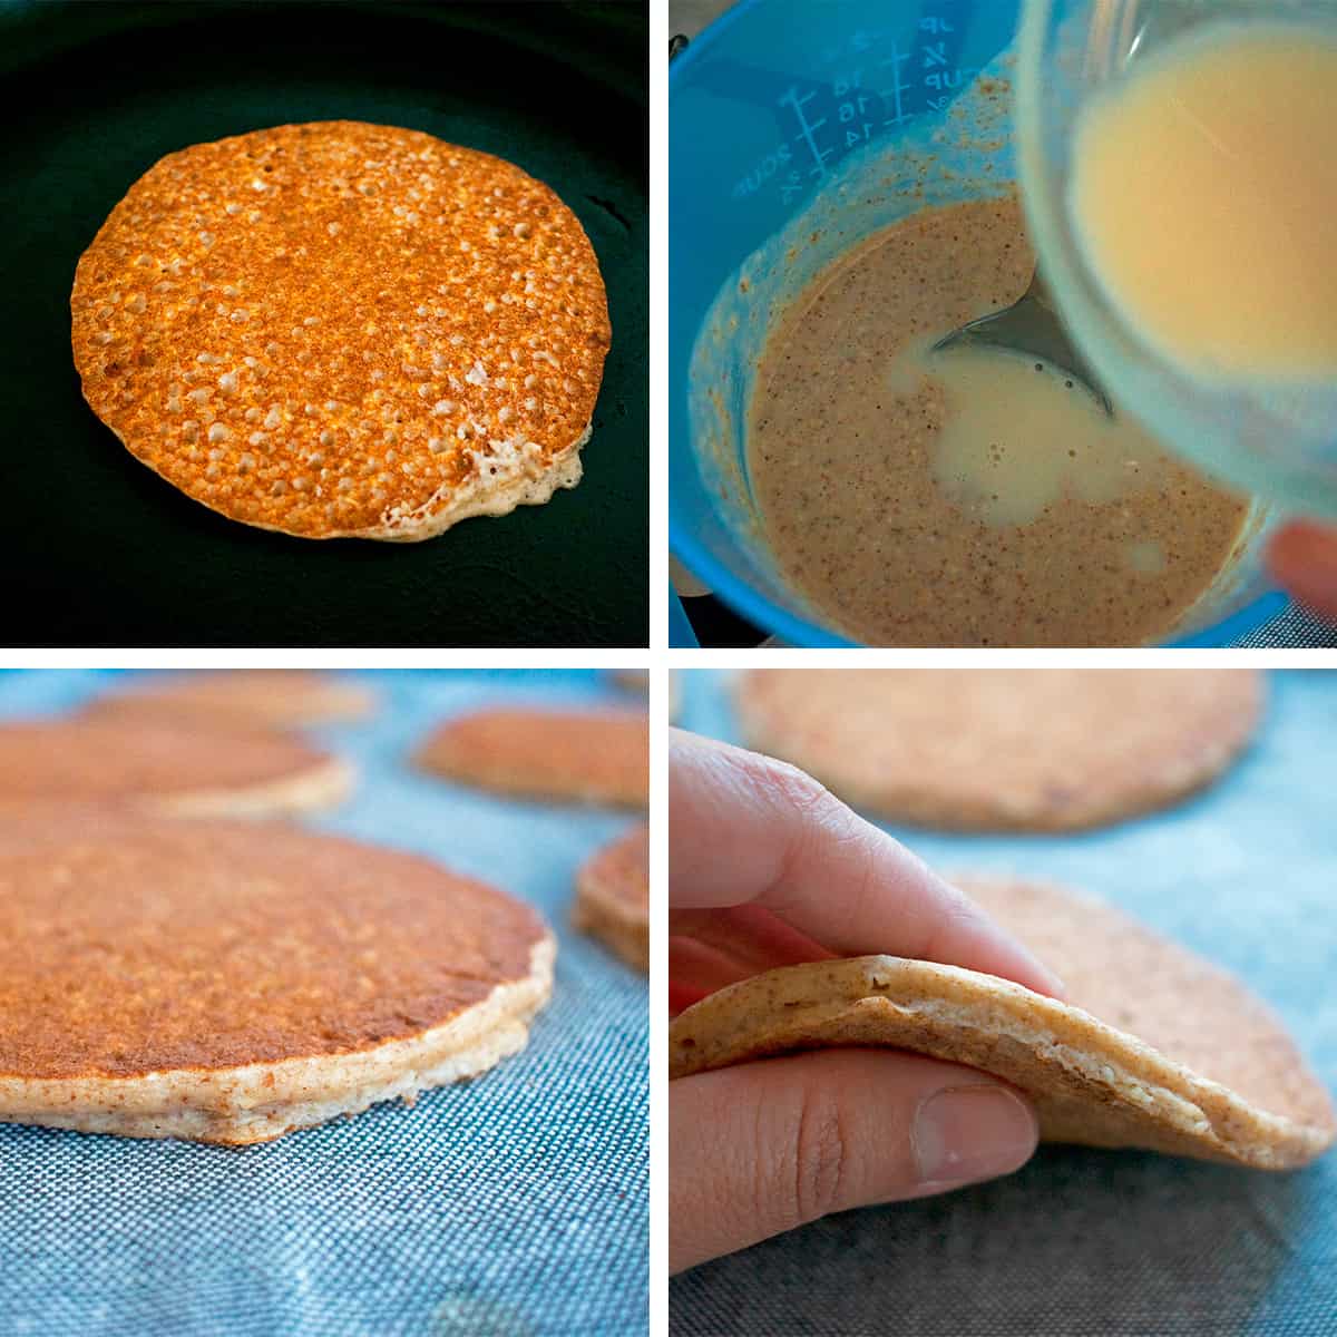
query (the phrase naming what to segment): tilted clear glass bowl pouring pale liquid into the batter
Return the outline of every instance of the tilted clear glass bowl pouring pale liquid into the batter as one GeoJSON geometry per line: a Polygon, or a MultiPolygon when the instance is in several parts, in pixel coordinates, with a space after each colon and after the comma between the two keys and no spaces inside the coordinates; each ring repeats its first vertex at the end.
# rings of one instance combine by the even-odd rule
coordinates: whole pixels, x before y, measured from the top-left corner
{"type": "MultiPolygon", "coordinates": [[[[1070,205],[1074,128],[1090,99],[1167,43],[1209,25],[1337,27],[1333,0],[1027,0],[1017,151],[1032,241],[1068,330],[1110,393],[1235,488],[1337,517],[1337,386],[1207,381],[1170,362],[1115,308],[1070,205]]],[[[1247,257],[1241,257],[1247,263],[1247,257]]]]}

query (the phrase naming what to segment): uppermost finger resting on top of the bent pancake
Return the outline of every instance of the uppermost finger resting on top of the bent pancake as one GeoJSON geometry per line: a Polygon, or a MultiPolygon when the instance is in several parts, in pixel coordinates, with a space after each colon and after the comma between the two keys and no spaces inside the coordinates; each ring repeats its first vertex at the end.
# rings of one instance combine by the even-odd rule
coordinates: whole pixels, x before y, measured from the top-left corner
{"type": "Polygon", "coordinates": [[[673,730],[668,900],[755,902],[838,956],[963,965],[1062,984],[968,897],[794,766],[673,730]]]}

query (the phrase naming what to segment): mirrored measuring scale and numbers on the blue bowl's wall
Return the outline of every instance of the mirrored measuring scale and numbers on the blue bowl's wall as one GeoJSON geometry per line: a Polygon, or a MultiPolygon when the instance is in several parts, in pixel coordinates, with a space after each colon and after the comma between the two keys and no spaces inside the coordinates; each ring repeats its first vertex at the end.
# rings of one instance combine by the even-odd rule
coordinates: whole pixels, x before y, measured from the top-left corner
{"type": "Polygon", "coordinates": [[[731,198],[746,201],[769,189],[792,203],[846,154],[923,111],[943,111],[979,70],[957,64],[955,20],[928,15],[919,20],[919,32],[909,49],[901,29],[882,28],[860,28],[828,47],[818,64],[829,78],[793,83],[775,99],[778,119],[793,132],[734,182],[731,198]]]}

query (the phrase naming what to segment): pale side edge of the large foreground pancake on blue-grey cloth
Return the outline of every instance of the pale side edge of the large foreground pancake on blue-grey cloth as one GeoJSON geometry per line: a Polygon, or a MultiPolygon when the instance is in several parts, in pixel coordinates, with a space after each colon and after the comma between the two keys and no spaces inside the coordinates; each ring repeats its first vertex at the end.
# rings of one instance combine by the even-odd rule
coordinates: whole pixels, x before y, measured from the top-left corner
{"type": "Polygon", "coordinates": [[[477,1076],[525,1047],[529,1021],[552,992],[555,956],[545,932],[529,949],[524,979],[496,985],[421,1035],[350,1054],[138,1078],[0,1076],[0,1123],[242,1147],[382,1100],[412,1104],[420,1092],[477,1076]]]}

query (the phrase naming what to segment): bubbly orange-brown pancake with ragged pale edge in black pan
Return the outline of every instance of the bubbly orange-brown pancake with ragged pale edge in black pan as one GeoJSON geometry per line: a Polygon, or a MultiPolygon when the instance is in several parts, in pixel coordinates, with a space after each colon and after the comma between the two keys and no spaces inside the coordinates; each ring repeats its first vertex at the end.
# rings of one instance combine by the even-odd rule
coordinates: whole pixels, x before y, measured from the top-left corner
{"type": "Polygon", "coordinates": [[[575,487],[610,341],[543,182],[353,120],[160,159],[71,313],[84,398],[138,460],[305,539],[427,539],[575,487]]]}

